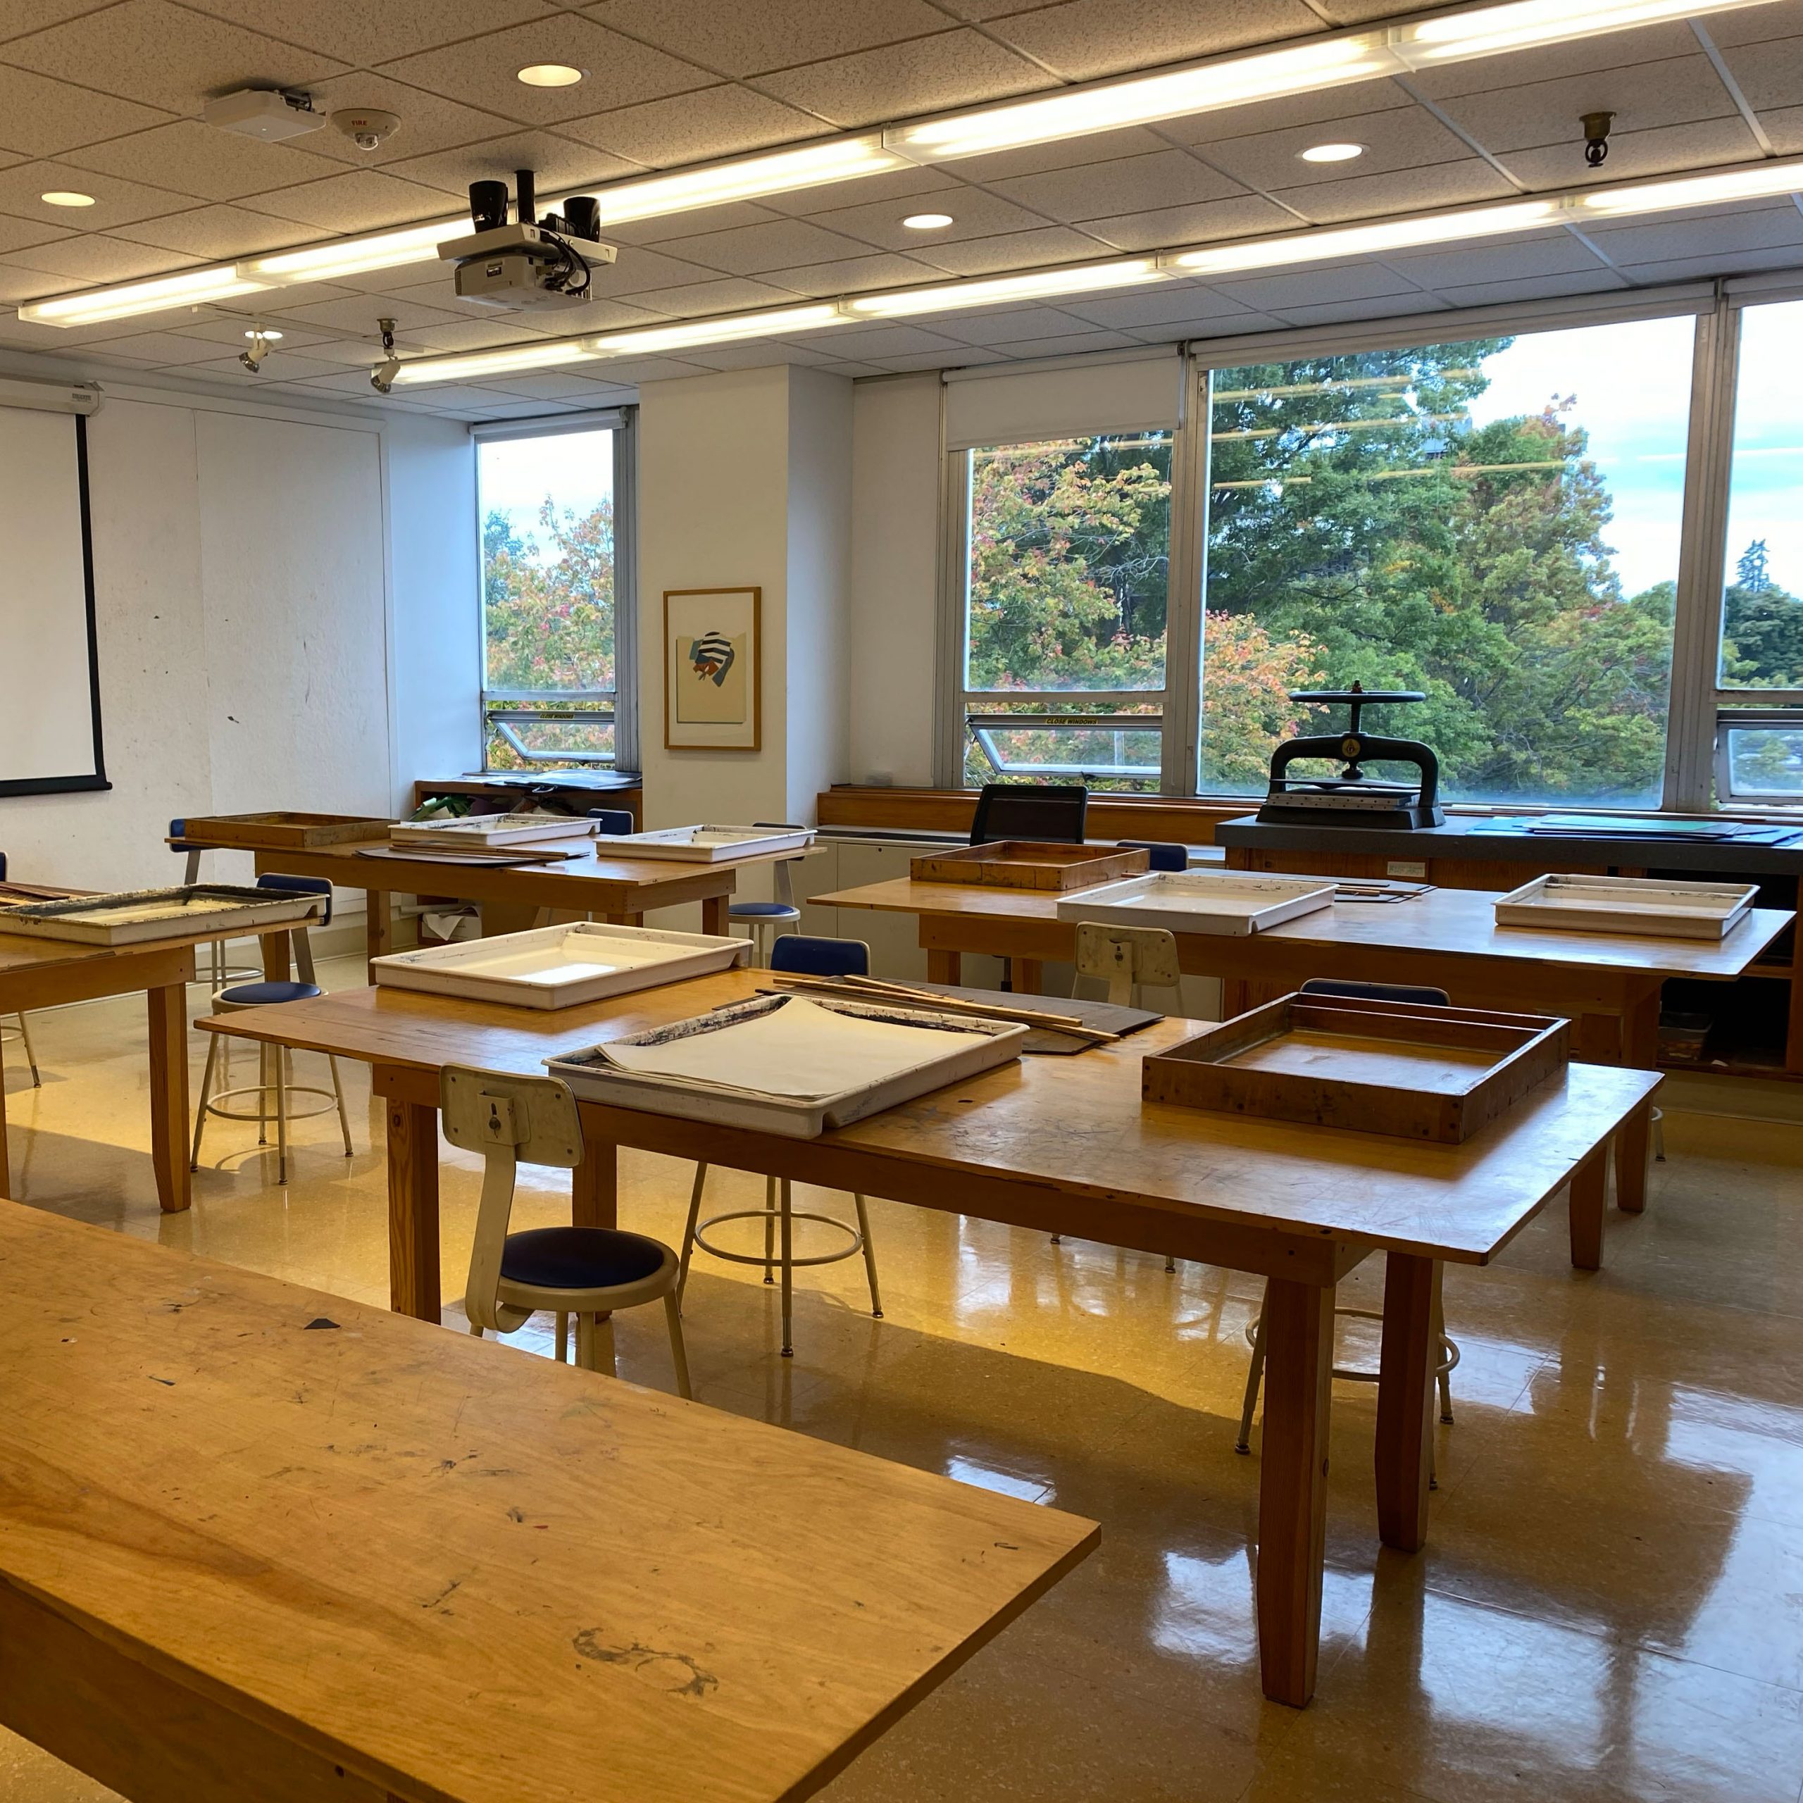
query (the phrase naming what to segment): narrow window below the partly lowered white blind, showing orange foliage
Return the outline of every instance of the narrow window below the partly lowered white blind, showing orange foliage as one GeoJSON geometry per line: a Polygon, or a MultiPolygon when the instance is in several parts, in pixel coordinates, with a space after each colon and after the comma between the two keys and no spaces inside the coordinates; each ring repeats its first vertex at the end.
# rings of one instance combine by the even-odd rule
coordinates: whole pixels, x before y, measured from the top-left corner
{"type": "Polygon", "coordinates": [[[1168,431],[979,447],[965,465],[965,781],[1161,784],[1168,431]]]}

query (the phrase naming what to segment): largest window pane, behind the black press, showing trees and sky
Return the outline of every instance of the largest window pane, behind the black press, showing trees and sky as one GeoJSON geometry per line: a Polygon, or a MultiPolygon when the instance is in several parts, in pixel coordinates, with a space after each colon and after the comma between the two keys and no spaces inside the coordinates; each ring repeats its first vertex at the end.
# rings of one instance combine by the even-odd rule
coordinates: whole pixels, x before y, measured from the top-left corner
{"type": "MultiPolygon", "coordinates": [[[[1652,806],[1693,326],[1634,321],[1219,370],[1203,788],[1262,788],[1304,687],[1423,689],[1455,801],[1652,806]]],[[[1372,770],[1374,775],[1388,772],[1372,770]]]]}

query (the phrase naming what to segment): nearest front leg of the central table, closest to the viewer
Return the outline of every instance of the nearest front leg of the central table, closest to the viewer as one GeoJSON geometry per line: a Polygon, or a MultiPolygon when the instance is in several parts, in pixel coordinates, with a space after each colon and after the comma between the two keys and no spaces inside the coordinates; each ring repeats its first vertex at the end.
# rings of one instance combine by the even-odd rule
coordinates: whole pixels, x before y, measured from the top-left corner
{"type": "Polygon", "coordinates": [[[1258,1664],[1266,1697],[1300,1709],[1314,1695],[1322,1644],[1332,1289],[1271,1278],[1264,1347],[1258,1664]]]}

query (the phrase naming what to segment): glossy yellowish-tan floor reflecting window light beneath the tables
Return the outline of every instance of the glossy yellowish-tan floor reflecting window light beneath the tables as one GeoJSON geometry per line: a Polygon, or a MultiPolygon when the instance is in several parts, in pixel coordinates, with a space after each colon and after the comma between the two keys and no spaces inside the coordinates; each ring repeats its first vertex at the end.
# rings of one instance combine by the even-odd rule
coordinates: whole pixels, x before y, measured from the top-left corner
{"type": "MultiPolygon", "coordinates": [[[[353,966],[328,981],[359,981],[353,966]]],[[[191,992],[200,1011],[202,992],[191,992]]],[[[32,1017],[7,1046],[16,1190],[40,1208],[380,1304],[380,1118],[346,1066],[357,1152],[297,1130],[292,1181],[209,1127],[188,1215],[157,1212],[142,1004],[32,1017]]],[[[198,1035],[197,1035],[198,1039],[198,1035]]],[[[197,1082],[198,1053],[197,1051],[197,1082]]],[[[240,1053],[249,1080],[252,1055],[240,1053]]],[[[299,1058],[299,1078],[323,1060],[299,1058]]],[[[1644,1219],[1572,1273],[1563,1208],[1487,1271],[1453,1269],[1457,1423],[1428,1549],[1377,1547],[1374,1392],[1334,1385],[1320,1688],[1262,1700],[1253,1457],[1235,1457],[1255,1278],[871,1203],[885,1320],[856,1260],[775,1291],[703,1262],[696,1394],[887,1459],[1098,1518],[1102,1551],[824,1792],[831,1803],[1798,1803],[1803,1796],[1803,1129],[1673,1114],[1644,1219]]],[[[474,1219],[445,1152],[445,1284],[474,1219]]],[[[555,1172],[517,1224],[568,1219],[555,1172]]],[[[543,1179],[543,1181],[537,1181],[543,1179]]],[[[674,1240],[691,1167],[622,1165],[622,1226],[674,1240]]],[[[710,1199],[754,1206],[721,1172],[710,1199]]],[[[799,1206],[849,1212],[808,1192],[799,1206]]],[[[754,1231],[754,1230],[745,1230],[754,1231]]],[[[1343,1302],[1377,1300],[1381,1260],[1343,1302]]],[[[447,1311],[454,1320],[454,1311],[447,1311]]],[[[1341,1359],[1376,1332],[1345,1323],[1341,1359]]],[[[548,1334],[517,1336],[548,1350],[548,1334]]],[[[620,1372],[671,1387],[662,1311],[618,1322],[620,1372]]],[[[781,1533],[781,1524],[772,1524],[781,1533]]],[[[105,1798],[0,1734],[0,1798],[105,1798]]],[[[701,1799],[698,1799],[701,1803],[701,1799]]]]}

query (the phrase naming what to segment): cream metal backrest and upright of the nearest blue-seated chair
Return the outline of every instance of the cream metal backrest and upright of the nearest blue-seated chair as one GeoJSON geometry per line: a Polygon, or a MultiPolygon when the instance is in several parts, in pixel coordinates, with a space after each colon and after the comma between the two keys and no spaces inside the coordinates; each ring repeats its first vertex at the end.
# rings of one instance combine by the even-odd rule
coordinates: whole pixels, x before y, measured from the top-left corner
{"type": "Polygon", "coordinates": [[[481,1154],[481,1203],[476,1208],[463,1311],[472,1327],[510,1334],[532,1313],[503,1307],[499,1300],[514,1177],[521,1165],[573,1170],[582,1163],[575,1096],[555,1076],[514,1076],[447,1064],[438,1073],[438,1111],[445,1138],[463,1152],[481,1154]]]}

